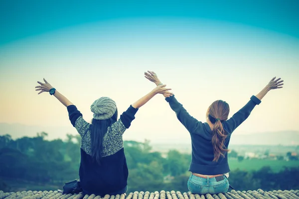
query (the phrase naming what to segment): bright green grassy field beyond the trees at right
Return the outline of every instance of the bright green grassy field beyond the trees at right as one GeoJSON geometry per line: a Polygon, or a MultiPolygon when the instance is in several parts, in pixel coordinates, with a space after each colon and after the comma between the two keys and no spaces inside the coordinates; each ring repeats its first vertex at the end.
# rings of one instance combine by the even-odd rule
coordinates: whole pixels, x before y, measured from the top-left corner
{"type": "Polygon", "coordinates": [[[279,160],[228,160],[231,171],[236,169],[252,171],[260,170],[262,167],[270,166],[274,172],[279,172],[284,167],[299,167],[299,161],[279,161],[279,160]]]}

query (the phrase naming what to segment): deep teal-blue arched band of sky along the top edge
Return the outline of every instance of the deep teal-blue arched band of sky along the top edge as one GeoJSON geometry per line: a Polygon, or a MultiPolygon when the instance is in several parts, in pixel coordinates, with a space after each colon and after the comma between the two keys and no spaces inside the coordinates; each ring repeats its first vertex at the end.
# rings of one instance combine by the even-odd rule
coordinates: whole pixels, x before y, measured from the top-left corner
{"type": "Polygon", "coordinates": [[[1,0],[0,44],[84,23],[139,17],[230,21],[299,37],[298,0],[1,0]]]}

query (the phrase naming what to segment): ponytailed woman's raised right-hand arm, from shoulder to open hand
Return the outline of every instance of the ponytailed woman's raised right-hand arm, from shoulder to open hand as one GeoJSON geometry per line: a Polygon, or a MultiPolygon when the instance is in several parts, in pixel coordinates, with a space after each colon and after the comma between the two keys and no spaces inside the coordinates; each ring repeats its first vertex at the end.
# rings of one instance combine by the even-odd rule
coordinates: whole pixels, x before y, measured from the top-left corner
{"type": "Polygon", "coordinates": [[[229,120],[223,122],[226,130],[229,133],[232,133],[240,124],[242,124],[250,115],[251,111],[254,109],[256,105],[261,103],[261,100],[265,95],[273,89],[282,88],[284,85],[283,80],[281,78],[276,79],[276,77],[272,78],[271,81],[259,92],[257,95],[253,95],[249,102],[242,107],[237,113],[235,113],[229,120]]]}

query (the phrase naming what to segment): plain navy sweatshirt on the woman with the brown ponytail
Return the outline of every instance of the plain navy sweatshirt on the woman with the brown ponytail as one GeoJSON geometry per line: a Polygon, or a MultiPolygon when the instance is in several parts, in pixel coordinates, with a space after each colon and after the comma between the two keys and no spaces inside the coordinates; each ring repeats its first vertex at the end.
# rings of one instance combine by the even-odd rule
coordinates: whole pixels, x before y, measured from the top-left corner
{"type": "MultiPolygon", "coordinates": [[[[227,153],[225,157],[220,156],[218,162],[213,162],[212,130],[208,123],[202,123],[190,116],[183,105],[175,99],[174,95],[165,98],[165,100],[176,113],[178,120],[190,133],[192,159],[189,171],[202,175],[218,175],[230,172],[227,153]]],[[[252,96],[242,109],[235,113],[229,120],[222,122],[223,128],[228,135],[224,142],[226,149],[228,148],[232,132],[248,118],[253,108],[260,103],[261,100],[256,96],[252,96]]]]}

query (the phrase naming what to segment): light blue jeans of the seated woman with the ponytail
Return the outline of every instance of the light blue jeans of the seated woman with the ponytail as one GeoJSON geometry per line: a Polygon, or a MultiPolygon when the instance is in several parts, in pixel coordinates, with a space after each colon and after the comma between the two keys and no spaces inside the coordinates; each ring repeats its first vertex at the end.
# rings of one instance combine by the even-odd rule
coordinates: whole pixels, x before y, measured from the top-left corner
{"type": "Polygon", "coordinates": [[[229,183],[225,175],[224,180],[219,182],[215,178],[200,178],[191,174],[188,180],[188,190],[192,194],[219,194],[226,193],[229,188],[229,183]]]}

